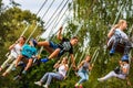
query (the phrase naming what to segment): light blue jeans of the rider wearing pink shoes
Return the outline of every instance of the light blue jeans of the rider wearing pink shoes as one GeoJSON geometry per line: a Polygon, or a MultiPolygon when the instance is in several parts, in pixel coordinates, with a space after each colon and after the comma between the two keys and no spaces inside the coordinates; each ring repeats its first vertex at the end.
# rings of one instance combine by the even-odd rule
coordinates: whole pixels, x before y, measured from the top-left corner
{"type": "Polygon", "coordinates": [[[78,81],[78,84],[82,84],[82,82],[89,80],[88,72],[79,70],[78,75],[81,77],[81,79],[78,81]]]}

